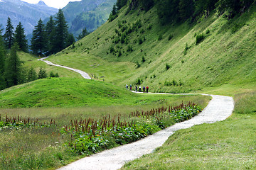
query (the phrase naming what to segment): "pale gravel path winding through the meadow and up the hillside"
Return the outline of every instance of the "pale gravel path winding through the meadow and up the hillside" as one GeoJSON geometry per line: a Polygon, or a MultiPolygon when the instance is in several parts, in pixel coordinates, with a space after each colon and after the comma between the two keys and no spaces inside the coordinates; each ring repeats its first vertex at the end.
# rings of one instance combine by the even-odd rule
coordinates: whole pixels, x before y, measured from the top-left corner
{"type": "MultiPolygon", "coordinates": [[[[53,64],[46,59],[39,59],[47,64],[63,67],[65,69],[70,69],[75,72],[78,72],[85,79],[91,79],[89,75],[85,72],[82,72],[78,69],[73,69],[70,67],[61,66],[58,64],[53,64]]],[[[133,91],[134,92],[134,91],[133,91]]],[[[137,92],[138,93],[138,92],[137,92]]],[[[163,93],[149,93],[149,94],[162,94],[162,95],[174,95],[174,94],[163,94],[163,93]]],[[[193,95],[193,94],[176,94],[176,95],[193,95]]],[[[131,144],[122,145],[113,149],[109,149],[98,154],[93,154],[90,157],[85,157],[76,162],[73,162],[67,166],[63,166],[58,170],[108,170],[108,169],[120,169],[125,163],[142,157],[144,154],[150,154],[154,152],[154,149],[161,147],[161,145],[166,142],[168,137],[170,137],[176,130],[191,128],[193,125],[200,125],[203,123],[215,123],[217,121],[222,121],[228,118],[234,109],[234,101],[232,97],[228,96],[218,96],[218,95],[208,95],[201,94],[206,96],[211,96],[212,100],[208,103],[203,111],[191,118],[181,123],[176,123],[169,128],[156,132],[154,135],[145,137],[142,140],[133,142],[131,144]]]]}

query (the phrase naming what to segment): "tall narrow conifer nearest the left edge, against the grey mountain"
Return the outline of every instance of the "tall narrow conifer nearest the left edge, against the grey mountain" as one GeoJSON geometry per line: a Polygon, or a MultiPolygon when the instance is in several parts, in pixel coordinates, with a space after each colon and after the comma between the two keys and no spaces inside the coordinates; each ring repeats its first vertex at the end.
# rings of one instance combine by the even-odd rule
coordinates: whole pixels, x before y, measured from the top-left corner
{"type": "Polygon", "coordinates": [[[11,24],[11,18],[8,17],[6,32],[4,33],[4,43],[8,49],[11,49],[11,46],[14,45],[14,26],[11,24]]]}

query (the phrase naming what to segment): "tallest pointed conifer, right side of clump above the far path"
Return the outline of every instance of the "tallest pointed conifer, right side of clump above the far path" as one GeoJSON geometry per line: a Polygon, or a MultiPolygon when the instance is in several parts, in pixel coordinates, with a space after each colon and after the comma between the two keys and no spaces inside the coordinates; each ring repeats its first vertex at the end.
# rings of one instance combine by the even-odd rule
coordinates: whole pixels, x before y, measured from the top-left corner
{"type": "Polygon", "coordinates": [[[67,47],[68,23],[65,21],[63,11],[59,9],[55,17],[55,37],[53,41],[53,52],[60,52],[67,47]]]}

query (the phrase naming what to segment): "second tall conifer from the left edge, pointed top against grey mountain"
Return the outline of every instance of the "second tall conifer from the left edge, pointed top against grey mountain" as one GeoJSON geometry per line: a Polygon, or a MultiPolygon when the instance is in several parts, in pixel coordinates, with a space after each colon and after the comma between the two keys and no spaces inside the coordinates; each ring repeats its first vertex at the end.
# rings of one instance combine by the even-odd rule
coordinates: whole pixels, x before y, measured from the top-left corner
{"type": "Polygon", "coordinates": [[[14,42],[18,43],[18,47],[23,52],[28,52],[28,40],[21,22],[18,23],[14,33],[14,42]]]}

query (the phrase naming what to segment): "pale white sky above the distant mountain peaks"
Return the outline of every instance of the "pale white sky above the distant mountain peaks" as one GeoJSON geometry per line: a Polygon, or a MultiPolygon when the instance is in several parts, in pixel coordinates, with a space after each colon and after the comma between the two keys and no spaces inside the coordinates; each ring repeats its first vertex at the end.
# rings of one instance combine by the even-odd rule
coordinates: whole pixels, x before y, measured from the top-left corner
{"type": "MultiPolygon", "coordinates": [[[[26,1],[30,4],[38,4],[40,0],[21,0],[26,1]]],[[[46,5],[54,7],[54,8],[63,8],[70,2],[69,0],[42,0],[46,3],[46,5]]],[[[71,0],[71,1],[81,1],[81,0],[71,0]]]]}

